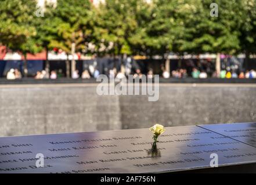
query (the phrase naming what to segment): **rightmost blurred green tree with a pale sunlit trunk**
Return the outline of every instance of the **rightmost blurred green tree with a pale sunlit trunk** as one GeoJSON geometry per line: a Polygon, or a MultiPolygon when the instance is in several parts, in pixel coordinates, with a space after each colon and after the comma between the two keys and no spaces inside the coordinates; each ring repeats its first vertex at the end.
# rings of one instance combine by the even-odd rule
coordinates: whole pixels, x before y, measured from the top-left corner
{"type": "MultiPolygon", "coordinates": [[[[191,3],[192,1],[190,1],[191,3]]],[[[236,0],[215,1],[218,16],[210,15],[211,0],[195,0],[194,16],[186,21],[186,37],[181,50],[188,53],[217,53],[217,75],[220,75],[220,53],[237,54],[240,49],[240,27],[243,10],[241,2],[236,0]]]]}

